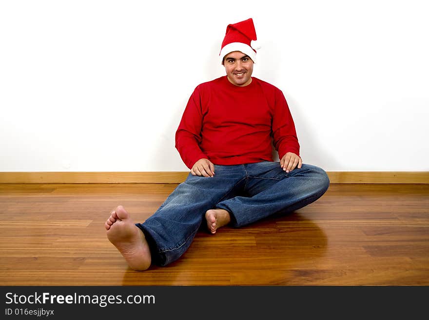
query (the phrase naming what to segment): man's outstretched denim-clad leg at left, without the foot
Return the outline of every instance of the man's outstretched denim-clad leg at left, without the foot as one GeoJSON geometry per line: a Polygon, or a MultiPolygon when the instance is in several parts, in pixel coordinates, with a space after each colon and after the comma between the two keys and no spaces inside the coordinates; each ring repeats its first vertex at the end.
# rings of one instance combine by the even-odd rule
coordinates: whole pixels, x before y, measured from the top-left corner
{"type": "Polygon", "coordinates": [[[176,261],[191,245],[206,211],[235,196],[244,182],[242,166],[215,166],[214,177],[189,174],[154,215],[137,224],[151,248],[152,261],[158,265],[176,261]]]}

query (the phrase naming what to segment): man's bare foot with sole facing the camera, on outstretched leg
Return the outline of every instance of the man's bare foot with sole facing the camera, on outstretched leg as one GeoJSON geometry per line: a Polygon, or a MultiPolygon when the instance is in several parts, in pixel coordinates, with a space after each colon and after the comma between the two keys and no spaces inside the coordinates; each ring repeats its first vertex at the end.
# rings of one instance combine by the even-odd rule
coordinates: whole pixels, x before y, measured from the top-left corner
{"type": "Polygon", "coordinates": [[[143,271],[151,265],[151,251],[143,232],[133,223],[124,207],[118,206],[105,225],[107,238],[116,246],[128,265],[143,271]]]}

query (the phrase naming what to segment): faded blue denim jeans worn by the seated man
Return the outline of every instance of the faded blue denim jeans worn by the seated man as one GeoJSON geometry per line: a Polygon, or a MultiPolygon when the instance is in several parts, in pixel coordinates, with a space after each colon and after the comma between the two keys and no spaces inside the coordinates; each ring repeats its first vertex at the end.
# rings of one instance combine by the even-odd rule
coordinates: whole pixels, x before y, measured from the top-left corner
{"type": "Polygon", "coordinates": [[[279,162],[215,165],[214,177],[188,175],[144,223],[154,264],[176,261],[191,245],[205,213],[230,212],[231,226],[246,226],[274,213],[289,213],[320,198],[329,187],[323,169],[303,164],[286,173],[279,162]]]}

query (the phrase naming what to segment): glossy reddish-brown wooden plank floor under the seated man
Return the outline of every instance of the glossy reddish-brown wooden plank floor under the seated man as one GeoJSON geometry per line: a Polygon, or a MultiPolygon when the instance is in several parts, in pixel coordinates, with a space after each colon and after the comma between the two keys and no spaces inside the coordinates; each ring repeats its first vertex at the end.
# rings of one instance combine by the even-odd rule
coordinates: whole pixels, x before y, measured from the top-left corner
{"type": "Polygon", "coordinates": [[[174,184],[0,184],[1,285],[429,285],[429,185],[332,184],[313,204],[199,232],[167,267],[127,267],[104,222],[143,222],[174,184]]]}

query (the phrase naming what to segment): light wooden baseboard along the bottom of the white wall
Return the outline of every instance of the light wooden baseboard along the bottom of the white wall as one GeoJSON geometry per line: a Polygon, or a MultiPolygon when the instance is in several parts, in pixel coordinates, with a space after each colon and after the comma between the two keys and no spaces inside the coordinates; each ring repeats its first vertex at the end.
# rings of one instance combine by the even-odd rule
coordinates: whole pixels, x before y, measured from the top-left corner
{"type": "MultiPolygon", "coordinates": [[[[429,184],[429,171],[328,171],[332,184],[429,184]]],[[[189,172],[0,172],[0,183],[181,183],[189,172]]]]}

